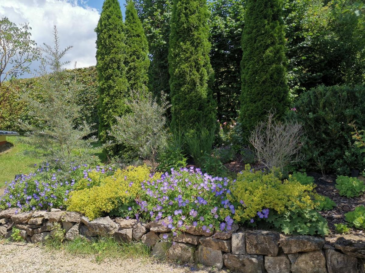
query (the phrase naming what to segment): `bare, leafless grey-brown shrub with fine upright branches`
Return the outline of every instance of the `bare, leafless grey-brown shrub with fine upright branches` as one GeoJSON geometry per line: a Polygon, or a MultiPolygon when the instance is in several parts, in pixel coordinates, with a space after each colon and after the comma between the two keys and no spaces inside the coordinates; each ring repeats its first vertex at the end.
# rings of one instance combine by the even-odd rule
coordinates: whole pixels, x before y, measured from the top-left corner
{"type": "Polygon", "coordinates": [[[257,158],[265,167],[283,168],[303,159],[300,149],[305,139],[304,130],[295,121],[278,122],[274,112],[269,112],[268,119],[261,122],[251,132],[250,143],[256,150],[257,158]]]}

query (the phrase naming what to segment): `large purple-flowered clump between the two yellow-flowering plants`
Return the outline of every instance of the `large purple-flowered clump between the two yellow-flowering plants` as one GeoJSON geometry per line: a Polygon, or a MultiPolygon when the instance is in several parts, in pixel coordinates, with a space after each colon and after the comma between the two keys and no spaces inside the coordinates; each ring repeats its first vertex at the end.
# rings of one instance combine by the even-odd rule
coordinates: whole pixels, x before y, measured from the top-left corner
{"type": "Polygon", "coordinates": [[[187,226],[212,230],[230,230],[235,207],[227,199],[230,180],[212,177],[194,167],[171,169],[161,179],[142,183],[142,194],[138,201],[142,217],[162,221],[176,235],[187,226]]]}

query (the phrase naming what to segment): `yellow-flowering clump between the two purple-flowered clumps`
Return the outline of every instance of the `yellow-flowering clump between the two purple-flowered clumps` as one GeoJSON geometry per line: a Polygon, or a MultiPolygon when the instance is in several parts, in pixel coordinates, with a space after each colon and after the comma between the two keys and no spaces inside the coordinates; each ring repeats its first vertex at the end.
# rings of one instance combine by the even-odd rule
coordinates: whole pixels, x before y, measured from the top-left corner
{"type": "Polygon", "coordinates": [[[73,191],[67,202],[68,210],[81,212],[89,219],[107,214],[129,218],[136,213],[135,199],[142,189],[141,183],[150,179],[150,169],[129,166],[113,175],[92,172],[79,185],[89,185],[89,179],[93,186],[73,191]]]}

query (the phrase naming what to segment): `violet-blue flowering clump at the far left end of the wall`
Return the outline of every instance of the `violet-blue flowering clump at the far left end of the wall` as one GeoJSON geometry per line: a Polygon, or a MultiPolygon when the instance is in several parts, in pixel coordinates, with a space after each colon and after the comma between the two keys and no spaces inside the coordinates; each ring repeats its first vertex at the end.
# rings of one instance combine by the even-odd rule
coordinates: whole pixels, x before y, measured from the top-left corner
{"type": "Polygon", "coordinates": [[[34,173],[22,174],[12,182],[5,182],[6,188],[0,197],[0,210],[9,207],[16,207],[19,212],[62,209],[69,193],[80,187],[78,180],[87,178],[90,171],[87,165],[70,166],[69,169],[61,171],[46,163],[34,173]]]}

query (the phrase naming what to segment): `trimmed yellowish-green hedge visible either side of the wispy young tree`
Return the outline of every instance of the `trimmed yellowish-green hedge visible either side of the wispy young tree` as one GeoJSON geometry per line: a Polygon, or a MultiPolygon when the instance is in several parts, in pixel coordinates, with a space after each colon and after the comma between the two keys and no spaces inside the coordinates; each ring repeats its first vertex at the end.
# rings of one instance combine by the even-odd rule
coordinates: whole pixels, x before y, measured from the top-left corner
{"type": "MultiPolygon", "coordinates": [[[[76,82],[81,84],[78,102],[81,105],[81,118],[75,120],[75,126],[86,121],[88,124],[96,124],[97,129],[99,118],[97,116],[97,104],[99,95],[97,92],[97,72],[94,66],[77,68],[71,74],[76,77],[76,82]]],[[[22,119],[30,124],[35,124],[28,112],[31,110],[27,103],[19,100],[19,94],[23,90],[31,90],[33,98],[42,99],[42,87],[37,77],[30,79],[15,79],[5,82],[0,89],[0,130],[17,131],[24,134],[17,121],[22,119]]]]}

